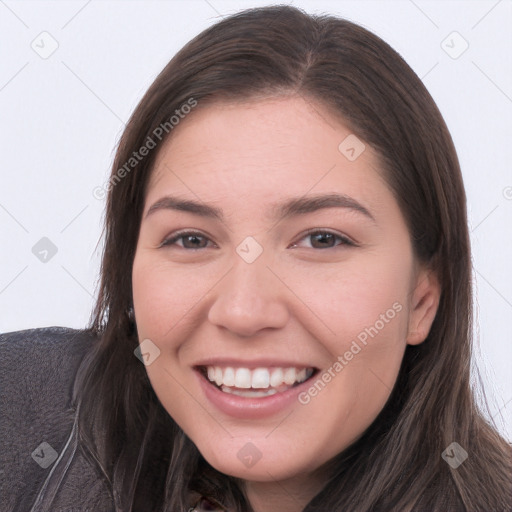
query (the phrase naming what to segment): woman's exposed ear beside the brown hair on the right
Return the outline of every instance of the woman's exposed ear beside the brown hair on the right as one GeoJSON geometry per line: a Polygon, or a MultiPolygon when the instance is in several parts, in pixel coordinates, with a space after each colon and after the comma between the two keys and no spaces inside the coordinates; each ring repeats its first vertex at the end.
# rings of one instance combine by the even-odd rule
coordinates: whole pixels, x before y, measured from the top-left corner
{"type": "Polygon", "coordinates": [[[409,310],[409,331],[407,343],[419,345],[423,343],[430,332],[436,317],[441,286],[435,272],[422,268],[416,276],[409,310]]]}

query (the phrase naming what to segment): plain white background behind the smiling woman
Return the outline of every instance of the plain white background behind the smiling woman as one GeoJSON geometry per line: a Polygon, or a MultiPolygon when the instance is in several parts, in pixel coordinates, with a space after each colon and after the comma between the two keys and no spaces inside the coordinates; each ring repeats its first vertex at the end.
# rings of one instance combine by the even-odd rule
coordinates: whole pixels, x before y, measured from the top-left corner
{"type": "MultiPolygon", "coordinates": [[[[188,40],[268,3],[0,0],[0,332],[85,325],[104,208],[93,190],[124,123],[188,40]]],[[[381,36],[443,113],[468,195],[475,361],[489,417],[512,439],[512,2],[284,3],[381,36]]]]}

